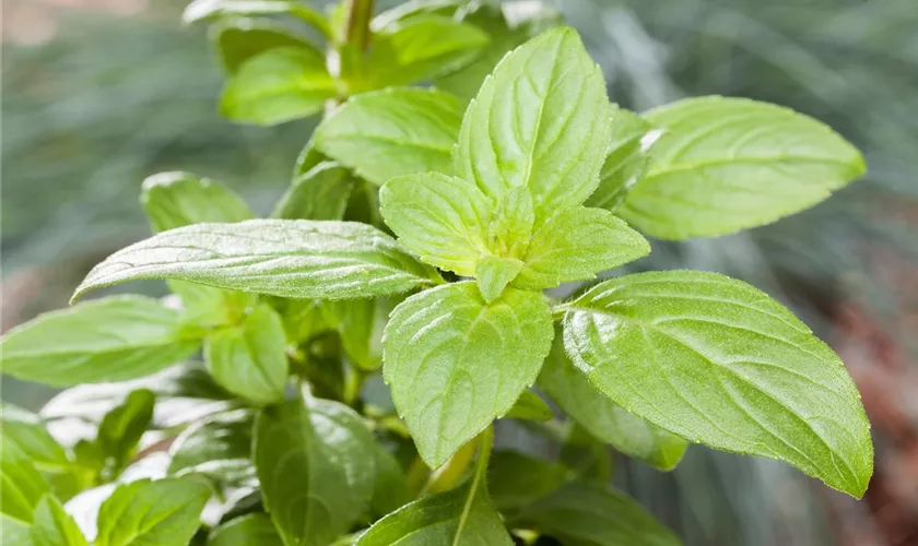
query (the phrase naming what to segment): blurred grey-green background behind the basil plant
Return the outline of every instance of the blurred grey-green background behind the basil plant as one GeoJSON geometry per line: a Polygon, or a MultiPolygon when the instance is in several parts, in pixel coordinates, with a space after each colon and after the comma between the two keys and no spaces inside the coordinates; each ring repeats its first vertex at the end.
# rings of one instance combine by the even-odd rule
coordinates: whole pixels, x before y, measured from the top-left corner
{"type": "MultiPolygon", "coordinates": [[[[688,545],[918,545],[918,0],[549,3],[581,32],[614,102],[778,103],[829,123],[870,166],[803,214],[655,244],[639,264],[744,278],[833,345],[873,426],[864,499],[701,447],[669,474],[622,460],[617,485],[688,545]]],[[[0,330],[62,307],[92,264],[148,235],[138,204],[148,175],[219,179],[257,212],[289,183],[311,127],[222,119],[222,76],[205,29],[180,25],[184,5],[0,1],[0,330]]],[[[0,395],[35,408],[49,392],[4,378],[0,395]]]]}

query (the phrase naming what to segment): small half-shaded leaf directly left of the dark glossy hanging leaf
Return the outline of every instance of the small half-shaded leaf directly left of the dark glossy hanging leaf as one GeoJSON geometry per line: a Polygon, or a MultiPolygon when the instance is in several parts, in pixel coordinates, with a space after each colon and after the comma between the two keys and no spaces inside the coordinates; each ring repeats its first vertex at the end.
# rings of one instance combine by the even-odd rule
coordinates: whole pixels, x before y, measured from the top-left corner
{"type": "Polygon", "coordinates": [[[255,415],[250,410],[217,414],[186,428],[169,448],[169,474],[210,461],[248,461],[255,415]]]}

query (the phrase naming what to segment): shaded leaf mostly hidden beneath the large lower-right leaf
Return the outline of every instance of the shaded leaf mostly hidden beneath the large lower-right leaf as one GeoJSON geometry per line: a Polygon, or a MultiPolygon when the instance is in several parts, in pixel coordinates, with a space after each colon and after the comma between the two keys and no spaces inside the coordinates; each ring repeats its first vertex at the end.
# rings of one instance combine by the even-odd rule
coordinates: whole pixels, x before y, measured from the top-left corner
{"type": "Polygon", "coordinates": [[[542,367],[539,387],[590,435],[660,470],[674,468],[688,446],[682,438],[610,402],[570,363],[561,335],[555,336],[552,352],[542,367]]]}

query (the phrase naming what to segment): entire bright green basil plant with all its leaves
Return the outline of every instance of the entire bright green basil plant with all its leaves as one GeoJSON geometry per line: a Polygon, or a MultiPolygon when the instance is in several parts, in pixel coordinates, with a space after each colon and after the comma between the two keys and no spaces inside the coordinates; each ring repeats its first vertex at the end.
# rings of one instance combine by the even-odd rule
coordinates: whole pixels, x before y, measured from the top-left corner
{"type": "Polygon", "coordinates": [[[533,2],[186,19],[227,117],[321,119],[269,218],[154,175],[154,235],[2,339],[2,373],[66,389],[3,406],[4,545],[675,545],[611,453],[669,471],[693,443],[863,495],[858,391],[803,322],[720,274],[604,273],[826,199],[864,173],[832,129],[720,96],[628,111],[533,2]],[[174,295],[83,300],[149,278],[174,295]],[[495,448],[514,420],[550,448],[495,448]]]}

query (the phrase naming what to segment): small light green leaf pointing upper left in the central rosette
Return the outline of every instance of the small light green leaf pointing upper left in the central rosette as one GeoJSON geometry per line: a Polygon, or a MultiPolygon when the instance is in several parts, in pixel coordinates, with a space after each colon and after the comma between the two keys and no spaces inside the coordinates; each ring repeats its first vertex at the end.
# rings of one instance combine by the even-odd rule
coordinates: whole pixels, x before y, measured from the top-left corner
{"type": "Polygon", "coordinates": [[[487,249],[491,203],[473,185],[425,173],[392,178],[380,211],[399,241],[427,263],[471,276],[487,249]]]}

